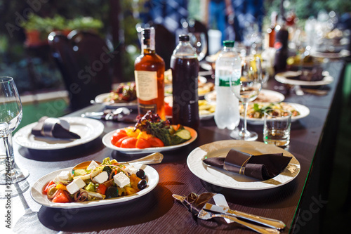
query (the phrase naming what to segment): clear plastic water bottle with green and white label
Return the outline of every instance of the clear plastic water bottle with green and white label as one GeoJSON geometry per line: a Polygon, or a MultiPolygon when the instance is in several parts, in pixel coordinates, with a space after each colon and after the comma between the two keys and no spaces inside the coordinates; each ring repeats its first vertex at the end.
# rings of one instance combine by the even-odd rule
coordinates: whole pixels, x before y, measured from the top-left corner
{"type": "Polygon", "coordinates": [[[241,59],[234,49],[234,41],[223,41],[223,49],[216,60],[215,122],[218,129],[235,129],[240,121],[239,100],[230,90],[230,77],[237,82],[241,77],[241,59]]]}

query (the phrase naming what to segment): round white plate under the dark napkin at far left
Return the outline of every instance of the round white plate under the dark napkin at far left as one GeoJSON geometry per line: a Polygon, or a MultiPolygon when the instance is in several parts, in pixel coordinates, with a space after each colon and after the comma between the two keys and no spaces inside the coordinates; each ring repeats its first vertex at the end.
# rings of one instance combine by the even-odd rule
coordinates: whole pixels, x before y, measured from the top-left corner
{"type": "Polygon", "coordinates": [[[104,124],[96,119],[82,117],[60,117],[69,122],[69,130],[81,136],[80,139],[60,139],[32,135],[37,122],[22,127],[13,139],[18,145],[34,150],[58,150],[82,145],[98,138],[104,131],[104,124]]]}

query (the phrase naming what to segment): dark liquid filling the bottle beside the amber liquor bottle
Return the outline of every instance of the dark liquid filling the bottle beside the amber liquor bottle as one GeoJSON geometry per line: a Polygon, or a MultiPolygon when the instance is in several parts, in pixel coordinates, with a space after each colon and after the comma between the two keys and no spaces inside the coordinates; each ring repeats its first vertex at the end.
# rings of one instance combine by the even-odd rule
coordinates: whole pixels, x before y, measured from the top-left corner
{"type": "Polygon", "coordinates": [[[171,58],[173,79],[173,124],[197,129],[199,126],[199,96],[197,94],[199,60],[171,58]]]}

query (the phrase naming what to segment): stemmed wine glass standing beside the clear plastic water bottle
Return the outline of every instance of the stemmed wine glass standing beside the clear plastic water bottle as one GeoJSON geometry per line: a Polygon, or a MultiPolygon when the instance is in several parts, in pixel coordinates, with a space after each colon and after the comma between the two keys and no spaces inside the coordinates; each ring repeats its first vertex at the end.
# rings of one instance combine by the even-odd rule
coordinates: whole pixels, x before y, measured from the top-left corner
{"type": "Polygon", "coordinates": [[[256,132],[247,130],[246,115],[249,102],[255,100],[262,89],[262,65],[259,57],[249,56],[241,60],[240,82],[235,82],[230,77],[230,90],[242,102],[244,107],[244,124],[241,130],[234,129],[230,136],[244,141],[255,141],[256,132]]]}

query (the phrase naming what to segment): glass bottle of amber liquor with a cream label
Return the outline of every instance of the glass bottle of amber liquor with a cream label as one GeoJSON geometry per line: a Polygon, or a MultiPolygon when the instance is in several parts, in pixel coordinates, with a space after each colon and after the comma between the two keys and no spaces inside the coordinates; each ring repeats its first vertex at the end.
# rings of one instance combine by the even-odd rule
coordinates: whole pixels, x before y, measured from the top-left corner
{"type": "Polygon", "coordinates": [[[164,112],[164,60],[155,51],[154,27],[145,28],[141,55],[135,59],[134,74],[139,115],[148,110],[165,119],[164,112]]]}

